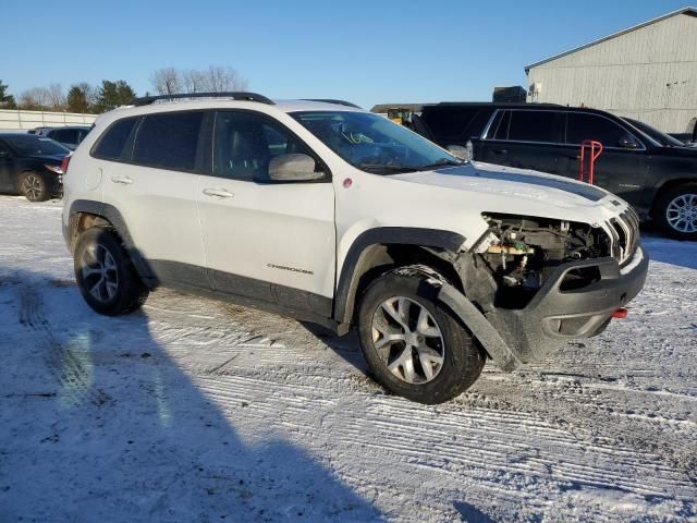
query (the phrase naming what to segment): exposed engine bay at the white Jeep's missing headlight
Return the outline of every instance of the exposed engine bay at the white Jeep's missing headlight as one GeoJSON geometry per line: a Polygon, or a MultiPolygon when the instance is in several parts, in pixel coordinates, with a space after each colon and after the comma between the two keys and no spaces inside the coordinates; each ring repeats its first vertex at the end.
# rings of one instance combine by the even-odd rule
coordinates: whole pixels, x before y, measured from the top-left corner
{"type": "MultiPolygon", "coordinates": [[[[469,299],[485,311],[523,308],[559,265],[610,255],[608,234],[587,223],[494,214],[482,218],[489,230],[461,260],[461,275],[469,299]]],[[[578,269],[562,282],[562,290],[599,278],[596,268],[578,269]]]]}

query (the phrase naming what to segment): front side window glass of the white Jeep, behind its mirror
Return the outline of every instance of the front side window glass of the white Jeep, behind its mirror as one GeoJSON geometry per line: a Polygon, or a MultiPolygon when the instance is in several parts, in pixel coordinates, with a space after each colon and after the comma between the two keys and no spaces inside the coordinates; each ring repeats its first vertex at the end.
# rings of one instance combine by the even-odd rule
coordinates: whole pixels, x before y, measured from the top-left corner
{"type": "Polygon", "coordinates": [[[290,131],[245,111],[219,111],[213,132],[213,175],[269,182],[269,163],[280,155],[311,155],[290,131]]]}

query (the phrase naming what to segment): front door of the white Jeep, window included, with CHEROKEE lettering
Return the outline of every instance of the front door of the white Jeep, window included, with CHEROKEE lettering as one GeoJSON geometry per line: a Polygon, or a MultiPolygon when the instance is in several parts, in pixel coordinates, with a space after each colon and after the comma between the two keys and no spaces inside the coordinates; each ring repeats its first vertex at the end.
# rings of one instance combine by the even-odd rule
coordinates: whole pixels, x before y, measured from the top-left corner
{"type": "MultiPolygon", "coordinates": [[[[283,183],[268,172],[276,156],[314,153],[277,120],[252,111],[218,111],[212,142],[211,171],[199,178],[197,197],[213,289],[328,317],[331,180],[283,183]]],[[[317,170],[327,172],[320,162],[317,170]]]]}

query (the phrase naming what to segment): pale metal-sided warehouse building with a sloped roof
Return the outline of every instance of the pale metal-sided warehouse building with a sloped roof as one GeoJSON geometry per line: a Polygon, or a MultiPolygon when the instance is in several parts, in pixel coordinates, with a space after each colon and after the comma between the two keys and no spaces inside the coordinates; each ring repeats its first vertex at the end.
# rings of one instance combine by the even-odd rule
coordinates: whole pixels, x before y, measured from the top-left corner
{"type": "Polygon", "coordinates": [[[527,101],[586,106],[668,133],[697,121],[697,9],[685,8],[525,68],[527,101]]]}

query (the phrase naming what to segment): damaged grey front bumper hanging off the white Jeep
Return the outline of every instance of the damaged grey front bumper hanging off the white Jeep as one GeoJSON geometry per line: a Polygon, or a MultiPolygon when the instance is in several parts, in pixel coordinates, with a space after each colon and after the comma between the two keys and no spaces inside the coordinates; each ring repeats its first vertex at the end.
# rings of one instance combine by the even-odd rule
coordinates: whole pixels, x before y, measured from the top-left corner
{"type": "Polygon", "coordinates": [[[525,308],[497,308],[486,317],[515,358],[526,363],[567,340],[601,333],[608,327],[612,313],[639,293],[648,265],[648,256],[640,244],[622,268],[612,257],[564,264],[548,276],[525,308]],[[580,268],[597,268],[600,279],[580,289],[562,290],[568,272],[580,268]]]}

